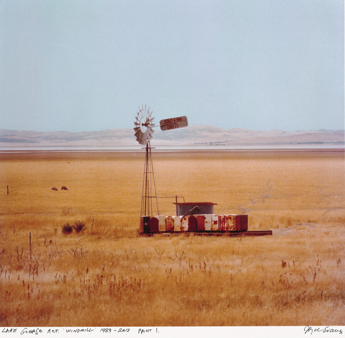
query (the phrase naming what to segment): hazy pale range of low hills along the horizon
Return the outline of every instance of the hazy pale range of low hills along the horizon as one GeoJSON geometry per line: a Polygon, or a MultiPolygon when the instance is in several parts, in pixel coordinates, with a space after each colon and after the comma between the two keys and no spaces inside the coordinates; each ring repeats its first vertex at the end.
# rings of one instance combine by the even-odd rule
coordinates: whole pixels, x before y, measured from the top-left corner
{"type": "MultiPolygon", "coordinates": [[[[155,130],[154,146],[286,146],[327,144],[344,147],[344,130],[258,131],[240,128],[221,129],[209,125],[155,130]]],[[[98,132],[36,132],[0,129],[0,148],[16,147],[126,147],[137,146],[134,130],[108,129],[98,132]]]]}

